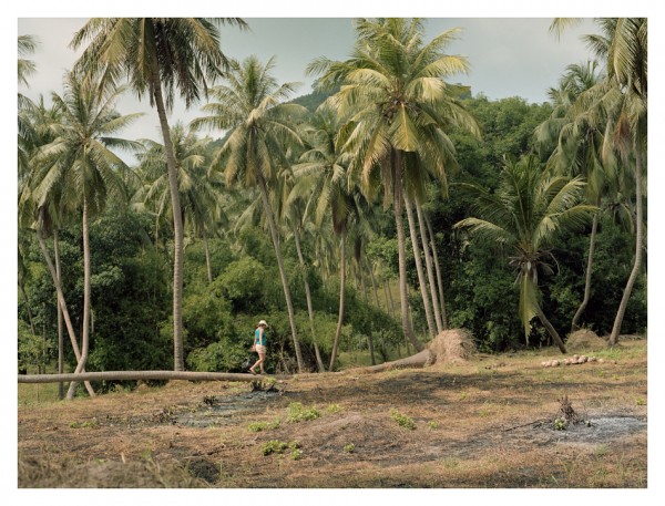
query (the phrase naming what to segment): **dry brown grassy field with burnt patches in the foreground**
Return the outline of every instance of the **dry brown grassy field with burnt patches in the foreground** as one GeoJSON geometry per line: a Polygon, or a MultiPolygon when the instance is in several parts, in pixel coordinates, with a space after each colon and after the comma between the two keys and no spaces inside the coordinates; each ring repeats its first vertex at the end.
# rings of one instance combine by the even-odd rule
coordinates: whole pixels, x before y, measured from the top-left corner
{"type": "Polygon", "coordinates": [[[546,350],[303,374],[278,393],[171,382],[20,405],[19,487],[644,488],[646,348],[626,341],[616,364],[543,369],[546,350]],[[591,426],[553,428],[564,395],[591,426]],[[319,416],[288,422],[294,403],[319,416]],[[297,452],[264,456],[270,441],[297,452]]]}

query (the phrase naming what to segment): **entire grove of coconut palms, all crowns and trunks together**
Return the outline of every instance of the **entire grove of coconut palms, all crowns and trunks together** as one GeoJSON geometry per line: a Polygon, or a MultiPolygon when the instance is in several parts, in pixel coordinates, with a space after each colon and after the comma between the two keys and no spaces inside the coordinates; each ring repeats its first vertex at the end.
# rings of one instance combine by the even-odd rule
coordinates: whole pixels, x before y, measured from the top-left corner
{"type": "MultiPolygon", "coordinates": [[[[594,41],[597,54],[607,58],[606,74],[596,74],[594,68],[586,69],[587,73],[581,68],[571,70],[559,94],[552,96],[557,105],[552,120],[539,132],[543,145],[556,140],[550,159],[552,174],[557,169],[573,178],[543,173],[533,157],[508,163],[504,185],[495,195],[468,187],[478,195],[483,219],[459,224],[514,248],[525,328],[538,316],[562,351],[563,342],[538,302],[538,270],[546,265],[543,259],[554,234],[583,225],[584,218],[596,211],[610,185],[610,167],[630,167],[635,174],[637,247],[625,298],[630,297],[642,254],[646,63],[642,66],[638,62],[641,58],[646,62],[646,20],[603,23],[606,37],[594,41]],[[589,182],[586,186],[581,177],[589,182]],[[584,187],[591,205],[582,204],[584,187]]],[[[263,210],[279,267],[298,370],[305,364],[282,258],[283,237],[293,237],[305,270],[311,266],[301,254],[300,237],[308,228],[320,231],[330,227],[339,241],[339,314],[328,365],[332,369],[344,323],[347,246],[354,245],[354,258],[361,268],[378,196],[385,208],[392,207],[395,217],[405,337],[420,350],[422,343],[409,318],[405,230],[408,226],[428,331],[433,337],[446,329],[447,317],[433,230],[423,210],[426,187],[436,179],[444,193],[448,189],[449,175],[457,168],[451,132],[462,130],[480,136],[475,121],[457,100],[460,86],[448,82],[468,70],[463,58],[444,53],[457,31],[426,42],[423,23],[418,19],[356,20],[351,56],[346,61],[321,58],[307,69],[318,76],[319,86],[331,93],[310,114],[288,102],[296,84],[279,84],[274,79],[273,60],[262,63],[250,56],[238,62],[223,54],[219,27],[224,24],[246,28],[241,19],[91,19],[72,40],[72,48],[83,48],[83,52],[65,76],[63,95],[53,94],[51,107],[19,95],[20,227],[37,233],[57,288],[59,314],[74,349],[76,371],[85,370],[89,352],[89,220],[108,202],[125,199],[154,213],[156,223],[171,224],[174,370],[181,371],[185,229],[204,241],[212,282],[207,238],[217,234],[227,216],[225,205],[233,192],[249,196],[245,214],[263,210]],[[114,110],[125,92],[121,85],[125,80],[126,87],[139,97],[147,94],[156,107],[163,144],[113,136],[136,117],[114,110]],[[217,80],[219,84],[215,84],[217,80]],[[202,117],[188,128],[167,123],[176,95],[187,106],[206,99],[202,117]],[[221,146],[213,148],[209,137],[197,135],[206,128],[226,132],[221,146]],[[137,167],[129,167],[112,148],[136,153],[137,167]],[[253,197],[255,189],[258,195],[253,197]],[[83,224],[85,266],[81,348],[60,286],[58,259],[58,229],[74,216],[83,224]],[[53,238],[54,262],[45,236],[53,238]]],[[[557,25],[562,24],[564,21],[559,20],[557,25]]],[[[19,50],[20,55],[34,50],[33,41],[19,38],[19,50]]],[[[31,69],[29,60],[19,60],[20,82],[28,83],[31,69]]],[[[596,223],[597,218],[593,230],[596,223]]],[[[374,283],[372,268],[366,270],[374,283]]],[[[317,363],[325,370],[305,282],[317,363]]],[[[623,301],[622,307],[625,311],[623,301]]],[[[617,314],[616,333],[621,318],[623,313],[617,314]]],[[[74,383],[69,396],[73,388],[74,383]]]]}

